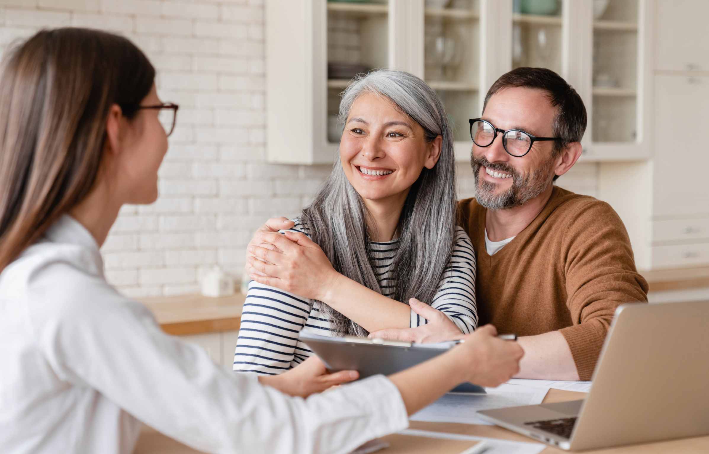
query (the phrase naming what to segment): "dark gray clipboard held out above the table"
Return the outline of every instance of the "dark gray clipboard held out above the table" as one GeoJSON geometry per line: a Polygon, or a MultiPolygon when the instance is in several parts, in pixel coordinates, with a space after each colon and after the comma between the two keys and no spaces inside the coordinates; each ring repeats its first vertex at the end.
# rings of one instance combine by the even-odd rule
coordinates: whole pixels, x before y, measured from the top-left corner
{"type": "MultiPolygon", "coordinates": [[[[301,331],[300,340],[323,360],[328,370],[357,370],[360,379],[401,372],[435,358],[456,345],[455,342],[411,343],[354,336],[337,338],[308,331],[301,331]]],[[[477,384],[462,383],[450,392],[485,394],[485,389],[477,384]]]]}

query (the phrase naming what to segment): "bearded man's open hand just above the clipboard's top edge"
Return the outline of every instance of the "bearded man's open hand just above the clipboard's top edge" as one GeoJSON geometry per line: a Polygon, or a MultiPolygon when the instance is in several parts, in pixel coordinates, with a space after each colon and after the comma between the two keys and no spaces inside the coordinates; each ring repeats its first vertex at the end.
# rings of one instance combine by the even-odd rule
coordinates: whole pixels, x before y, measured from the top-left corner
{"type": "Polygon", "coordinates": [[[459,328],[445,314],[433,309],[428,304],[412,298],[408,305],[416,314],[428,321],[416,328],[387,328],[369,334],[369,338],[384,339],[384,341],[404,341],[415,343],[436,343],[462,339],[459,328]]]}

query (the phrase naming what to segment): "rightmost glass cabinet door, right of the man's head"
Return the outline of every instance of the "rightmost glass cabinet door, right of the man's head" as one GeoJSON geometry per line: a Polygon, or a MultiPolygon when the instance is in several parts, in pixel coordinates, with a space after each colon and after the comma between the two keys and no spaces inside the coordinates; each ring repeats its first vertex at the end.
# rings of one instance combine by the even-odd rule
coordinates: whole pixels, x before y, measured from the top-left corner
{"type": "Polygon", "coordinates": [[[593,3],[594,143],[637,140],[638,2],[593,3]]]}

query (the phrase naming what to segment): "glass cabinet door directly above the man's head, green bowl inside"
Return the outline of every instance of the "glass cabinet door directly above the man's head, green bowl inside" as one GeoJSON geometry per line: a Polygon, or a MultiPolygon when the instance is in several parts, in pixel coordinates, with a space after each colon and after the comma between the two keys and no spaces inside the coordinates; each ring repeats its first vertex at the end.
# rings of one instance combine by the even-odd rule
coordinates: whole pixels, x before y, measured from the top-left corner
{"type": "Polygon", "coordinates": [[[511,0],[512,67],[545,67],[562,74],[562,1],[511,0]]]}

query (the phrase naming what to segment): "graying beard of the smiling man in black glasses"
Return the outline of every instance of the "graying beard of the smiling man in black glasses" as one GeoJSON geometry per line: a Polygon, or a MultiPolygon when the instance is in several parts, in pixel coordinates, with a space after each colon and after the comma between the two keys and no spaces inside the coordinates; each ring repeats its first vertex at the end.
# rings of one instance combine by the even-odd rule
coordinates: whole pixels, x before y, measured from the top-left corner
{"type": "MultiPolygon", "coordinates": [[[[512,174],[512,186],[501,194],[495,194],[496,184],[480,181],[480,168],[484,163],[473,160],[471,165],[475,177],[475,199],[480,206],[489,210],[504,210],[522,206],[527,201],[545,192],[545,189],[549,186],[549,180],[552,179],[553,160],[550,159],[539,169],[524,176],[518,175],[516,172],[510,172],[512,174]]],[[[494,168],[494,165],[491,166],[494,168]]],[[[508,172],[509,170],[505,169],[503,171],[508,172]]]]}

